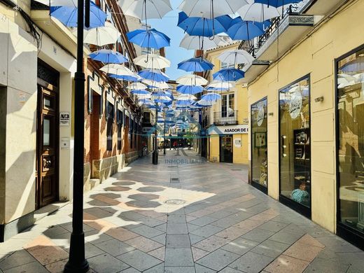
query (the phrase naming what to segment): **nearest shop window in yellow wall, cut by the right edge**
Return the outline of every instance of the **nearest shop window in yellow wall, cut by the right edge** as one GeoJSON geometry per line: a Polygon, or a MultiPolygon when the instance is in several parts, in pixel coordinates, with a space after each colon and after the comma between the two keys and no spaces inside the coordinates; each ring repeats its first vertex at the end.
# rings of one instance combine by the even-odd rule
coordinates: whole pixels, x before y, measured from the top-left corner
{"type": "Polygon", "coordinates": [[[337,117],[338,222],[364,237],[364,49],[337,62],[337,117]]]}

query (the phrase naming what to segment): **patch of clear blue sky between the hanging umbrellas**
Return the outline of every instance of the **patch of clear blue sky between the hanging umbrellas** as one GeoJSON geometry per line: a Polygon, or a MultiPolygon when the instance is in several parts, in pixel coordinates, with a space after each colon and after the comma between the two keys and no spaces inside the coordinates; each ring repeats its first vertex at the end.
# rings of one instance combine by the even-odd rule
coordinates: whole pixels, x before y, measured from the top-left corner
{"type": "Polygon", "coordinates": [[[179,10],[177,10],[177,8],[181,2],[182,0],[171,0],[172,8],[174,8],[174,10],[167,13],[162,19],[148,20],[148,25],[151,25],[158,31],[162,31],[171,38],[171,46],[165,48],[166,57],[172,62],[171,67],[167,68],[166,71],[171,80],[176,80],[176,78],[188,73],[177,69],[177,64],[194,55],[193,50],[186,50],[179,47],[179,43],[181,43],[183,36],[185,36],[183,30],[177,27],[177,22],[179,20],[179,10]]]}

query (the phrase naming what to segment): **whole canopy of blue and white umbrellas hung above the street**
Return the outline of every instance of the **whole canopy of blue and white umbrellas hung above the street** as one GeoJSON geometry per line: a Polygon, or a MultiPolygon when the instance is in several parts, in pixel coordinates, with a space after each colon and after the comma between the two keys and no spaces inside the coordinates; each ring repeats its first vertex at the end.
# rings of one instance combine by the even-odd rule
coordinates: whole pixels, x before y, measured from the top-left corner
{"type": "MultiPolygon", "coordinates": [[[[57,18],[66,27],[77,27],[76,0],[36,0],[50,6],[50,16],[57,18]]],[[[179,6],[177,27],[186,36],[180,43],[188,50],[209,50],[225,46],[230,41],[251,41],[265,34],[271,25],[272,18],[283,16],[284,10],[293,3],[302,0],[183,0],[179,6]]],[[[172,87],[168,85],[169,76],[164,70],[171,65],[165,57],[153,54],[170,45],[170,38],[148,25],[148,20],[163,18],[172,6],[169,0],[119,0],[118,5],[125,15],[139,18],[145,22],[144,27],[130,31],[127,38],[130,43],[147,49],[147,54],[135,58],[134,64],[143,68],[132,71],[125,63],[129,59],[120,52],[108,49],[109,45],[120,41],[120,32],[113,26],[112,18],[94,2],[90,3],[90,27],[84,29],[84,43],[96,45],[98,49],[89,57],[102,62],[100,71],[109,77],[127,81],[130,94],[138,97],[141,106],[158,109],[163,116],[158,116],[158,123],[168,127],[186,129],[190,125],[187,111],[198,111],[210,107],[221,99],[224,91],[230,91],[235,83],[244,78],[244,71],[238,64],[250,64],[254,58],[245,50],[226,50],[218,59],[228,64],[213,74],[209,83],[205,78],[197,76],[198,72],[214,69],[214,64],[202,56],[186,59],[178,64],[178,69],[186,71],[186,75],[176,80],[174,98],[172,87]],[[197,100],[196,95],[205,92],[197,100]]],[[[112,14],[113,11],[109,10],[112,14]]],[[[76,32],[73,32],[76,35],[76,32]]]]}

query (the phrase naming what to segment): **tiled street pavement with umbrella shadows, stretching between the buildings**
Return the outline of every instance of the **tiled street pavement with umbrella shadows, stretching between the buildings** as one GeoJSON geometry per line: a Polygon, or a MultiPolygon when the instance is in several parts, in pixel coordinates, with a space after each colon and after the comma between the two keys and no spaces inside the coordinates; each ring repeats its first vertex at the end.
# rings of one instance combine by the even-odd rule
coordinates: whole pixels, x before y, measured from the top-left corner
{"type": "MultiPolygon", "coordinates": [[[[90,272],[364,272],[364,253],[247,183],[243,165],[167,151],[85,195],[90,272]]],[[[0,244],[0,272],[62,272],[71,204],[0,244]]]]}

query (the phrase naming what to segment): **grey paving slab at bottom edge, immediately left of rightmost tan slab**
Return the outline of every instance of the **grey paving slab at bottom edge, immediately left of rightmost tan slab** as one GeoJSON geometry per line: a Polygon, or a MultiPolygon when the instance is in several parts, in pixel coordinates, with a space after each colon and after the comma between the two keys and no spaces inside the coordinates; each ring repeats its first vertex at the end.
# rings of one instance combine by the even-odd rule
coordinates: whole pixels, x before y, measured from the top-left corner
{"type": "Polygon", "coordinates": [[[253,252],[248,252],[232,262],[230,267],[246,272],[246,273],[256,273],[264,269],[274,258],[267,257],[265,255],[260,255],[253,252]]]}

